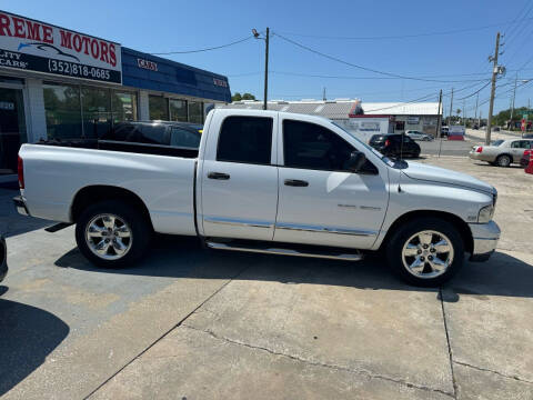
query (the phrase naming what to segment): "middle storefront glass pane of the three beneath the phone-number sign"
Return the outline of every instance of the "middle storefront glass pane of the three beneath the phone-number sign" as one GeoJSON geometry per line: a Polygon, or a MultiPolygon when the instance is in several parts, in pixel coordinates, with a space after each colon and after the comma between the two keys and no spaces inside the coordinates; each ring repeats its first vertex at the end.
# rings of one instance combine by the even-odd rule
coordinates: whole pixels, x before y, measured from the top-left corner
{"type": "Polygon", "coordinates": [[[81,88],[83,136],[100,138],[111,128],[111,93],[109,89],[81,88]]]}

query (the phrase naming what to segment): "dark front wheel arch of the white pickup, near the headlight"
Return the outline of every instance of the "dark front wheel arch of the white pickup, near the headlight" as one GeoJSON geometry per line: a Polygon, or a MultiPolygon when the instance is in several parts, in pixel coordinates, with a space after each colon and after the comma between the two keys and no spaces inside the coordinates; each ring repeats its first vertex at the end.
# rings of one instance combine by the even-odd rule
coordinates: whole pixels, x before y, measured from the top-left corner
{"type": "Polygon", "coordinates": [[[462,220],[460,217],[451,212],[435,211],[435,210],[416,210],[416,211],[410,211],[400,216],[386,231],[386,234],[383,238],[379,250],[380,251],[383,250],[384,246],[386,246],[390,238],[393,236],[393,233],[398,230],[399,227],[414,219],[428,218],[428,217],[440,218],[444,221],[452,223],[455,227],[455,229],[457,229],[459,233],[461,234],[461,238],[463,239],[464,251],[472,253],[472,251],[474,250],[474,239],[472,236],[472,230],[470,229],[469,224],[464,220],[462,220]]]}

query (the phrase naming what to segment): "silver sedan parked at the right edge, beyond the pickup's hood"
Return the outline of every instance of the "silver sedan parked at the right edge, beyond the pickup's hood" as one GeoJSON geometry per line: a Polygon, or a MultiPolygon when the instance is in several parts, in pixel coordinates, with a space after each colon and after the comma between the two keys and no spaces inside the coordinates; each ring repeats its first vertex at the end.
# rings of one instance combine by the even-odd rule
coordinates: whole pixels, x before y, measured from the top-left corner
{"type": "Polygon", "coordinates": [[[513,162],[520,163],[527,149],[533,149],[533,139],[495,140],[491,146],[474,146],[469,157],[493,166],[509,167],[513,162]]]}

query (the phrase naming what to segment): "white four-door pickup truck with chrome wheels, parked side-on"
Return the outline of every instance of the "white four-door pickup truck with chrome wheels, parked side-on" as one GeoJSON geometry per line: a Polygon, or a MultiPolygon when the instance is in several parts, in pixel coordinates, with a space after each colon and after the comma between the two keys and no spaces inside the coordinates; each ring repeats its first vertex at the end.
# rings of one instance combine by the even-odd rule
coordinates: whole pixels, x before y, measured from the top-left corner
{"type": "Polygon", "coordinates": [[[220,250],[351,261],[382,251],[408,282],[435,286],[500,238],[492,186],[389,160],[319,117],[215,109],[195,151],[107,146],[22,146],[14,199],[21,213],[76,223],[79,249],[104,267],[138,260],[160,232],[220,250]]]}

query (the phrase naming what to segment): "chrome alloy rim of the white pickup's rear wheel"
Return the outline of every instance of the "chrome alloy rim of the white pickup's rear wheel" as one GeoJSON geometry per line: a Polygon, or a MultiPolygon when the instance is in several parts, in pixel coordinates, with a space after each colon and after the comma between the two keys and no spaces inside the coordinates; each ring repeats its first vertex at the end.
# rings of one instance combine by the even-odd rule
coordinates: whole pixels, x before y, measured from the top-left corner
{"type": "Polygon", "coordinates": [[[104,260],[118,260],[128,253],[133,242],[131,228],[120,217],[98,214],[87,224],[87,246],[104,260]]]}

